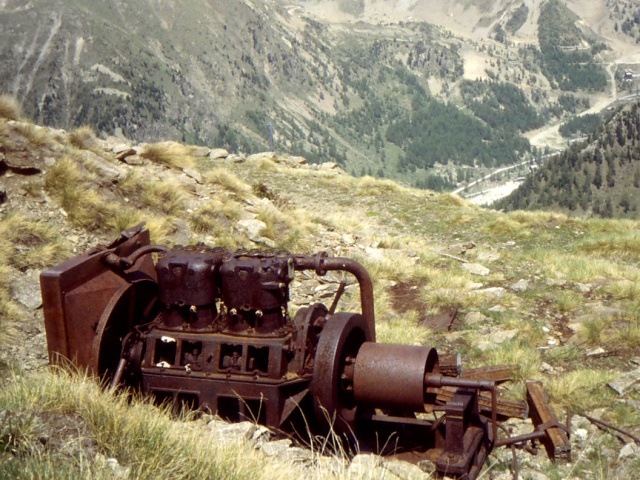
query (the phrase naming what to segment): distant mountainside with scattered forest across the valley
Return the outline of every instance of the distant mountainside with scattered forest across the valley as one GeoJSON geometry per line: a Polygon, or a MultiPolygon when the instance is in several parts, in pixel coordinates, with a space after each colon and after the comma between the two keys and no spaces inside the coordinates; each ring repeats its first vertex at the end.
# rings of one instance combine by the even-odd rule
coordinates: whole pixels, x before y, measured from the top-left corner
{"type": "Polygon", "coordinates": [[[535,154],[526,132],[615,100],[640,52],[620,27],[631,7],[609,3],[8,0],[0,81],[56,128],[244,152],[272,132],[283,154],[448,190],[535,154]],[[501,109],[529,121],[514,130],[501,109]]]}

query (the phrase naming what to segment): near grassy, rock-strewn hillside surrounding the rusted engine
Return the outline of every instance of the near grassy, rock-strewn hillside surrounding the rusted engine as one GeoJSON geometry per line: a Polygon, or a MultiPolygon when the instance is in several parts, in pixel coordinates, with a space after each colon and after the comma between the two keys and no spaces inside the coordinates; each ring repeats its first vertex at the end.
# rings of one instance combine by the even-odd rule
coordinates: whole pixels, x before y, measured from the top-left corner
{"type": "MultiPolygon", "coordinates": [[[[503,214],[299,157],[123,144],[25,122],[6,99],[0,111],[13,118],[0,119],[0,477],[409,478],[392,463],[362,470],[323,451],[267,460],[242,434],[219,441],[212,419],[184,423],[50,372],[39,272],[140,221],[158,244],[326,250],[362,262],[379,341],[460,353],[467,367],[518,364],[503,395],[520,399],[525,379],[542,379],[562,421],[572,409],[574,463],[518,453],[521,475],[640,474],[629,439],[585,417],[640,433],[637,222],[503,214]],[[450,331],[421,324],[453,311],[450,331]]],[[[294,308],[337,288],[311,280],[296,280],[294,308]]],[[[359,308],[354,293],[340,309],[359,308]]],[[[487,468],[510,478],[510,452],[497,450],[487,468]]]]}

